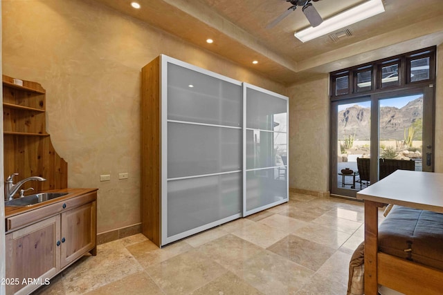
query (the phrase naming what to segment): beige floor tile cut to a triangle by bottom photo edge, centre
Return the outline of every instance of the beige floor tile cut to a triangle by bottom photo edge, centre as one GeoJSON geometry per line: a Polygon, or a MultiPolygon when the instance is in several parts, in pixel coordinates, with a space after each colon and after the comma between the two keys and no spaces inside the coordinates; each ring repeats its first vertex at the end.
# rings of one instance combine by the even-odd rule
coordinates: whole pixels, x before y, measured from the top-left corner
{"type": "Polygon", "coordinates": [[[197,289],[192,295],[208,294],[236,294],[236,295],[259,295],[258,291],[244,280],[235,276],[232,272],[227,272],[223,276],[211,281],[203,287],[197,289]]]}

